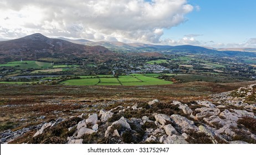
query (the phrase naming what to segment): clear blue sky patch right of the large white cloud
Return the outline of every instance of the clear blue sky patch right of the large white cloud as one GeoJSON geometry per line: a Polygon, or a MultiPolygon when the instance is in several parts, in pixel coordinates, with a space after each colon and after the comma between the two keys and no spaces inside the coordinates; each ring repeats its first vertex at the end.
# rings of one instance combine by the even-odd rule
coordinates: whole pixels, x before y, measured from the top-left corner
{"type": "Polygon", "coordinates": [[[202,42],[241,44],[256,38],[256,1],[190,0],[188,3],[194,6],[186,15],[188,20],[165,29],[163,39],[177,40],[187,34],[198,34],[195,38],[202,42]]]}

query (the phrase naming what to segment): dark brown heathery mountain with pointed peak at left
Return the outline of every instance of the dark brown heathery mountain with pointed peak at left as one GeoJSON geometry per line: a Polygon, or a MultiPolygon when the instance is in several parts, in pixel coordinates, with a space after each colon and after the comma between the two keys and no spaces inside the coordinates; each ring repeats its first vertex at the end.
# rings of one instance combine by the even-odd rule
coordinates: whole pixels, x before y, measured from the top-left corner
{"type": "Polygon", "coordinates": [[[120,54],[103,46],[88,46],[52,39],[42,34],[0,42],[0,62],[13,60],[37,60],[40,58],[87,58],[95,61],[117,59],[120,54]]]}

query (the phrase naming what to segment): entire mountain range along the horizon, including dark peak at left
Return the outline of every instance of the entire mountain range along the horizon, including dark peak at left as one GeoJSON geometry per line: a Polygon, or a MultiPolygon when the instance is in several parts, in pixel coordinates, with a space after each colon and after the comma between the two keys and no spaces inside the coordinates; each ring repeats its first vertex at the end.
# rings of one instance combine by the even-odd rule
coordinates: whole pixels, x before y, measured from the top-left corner
{"type": "Polygon", "coordinates": [[[0,42],[0,63],[14,60],[117,60],[121,56],[162,56],[162,54],[205,54],[211,56],[252,56],[256,49],[213,49],[192,45],[152,45],[122,42],[91,42],[85,39],[52,39],[36,33],[23,38],[0,42]]]}

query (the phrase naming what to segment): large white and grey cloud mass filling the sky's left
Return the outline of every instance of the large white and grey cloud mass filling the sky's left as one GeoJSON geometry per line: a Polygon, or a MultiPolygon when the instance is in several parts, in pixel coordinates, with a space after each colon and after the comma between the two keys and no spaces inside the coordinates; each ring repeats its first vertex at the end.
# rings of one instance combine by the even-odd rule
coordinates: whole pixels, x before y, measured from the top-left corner
{"type": "Polygon", "coordinates": [[[2,0],[0,38],[52,37],[158,43],[193,11],[186,0],[2,0]],[[8,17],[8,20],[6,20],[8,17]]]}

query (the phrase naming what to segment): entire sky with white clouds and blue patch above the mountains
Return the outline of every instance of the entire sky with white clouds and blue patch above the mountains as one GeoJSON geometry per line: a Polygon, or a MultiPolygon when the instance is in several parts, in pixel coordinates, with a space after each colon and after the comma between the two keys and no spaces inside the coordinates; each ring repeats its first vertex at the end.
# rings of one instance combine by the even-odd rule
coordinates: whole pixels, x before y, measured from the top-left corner
{"type": "Polygon", "coordinates": [[[0,38],[256,48],[255,0],[0,0],[0,38]]]}

